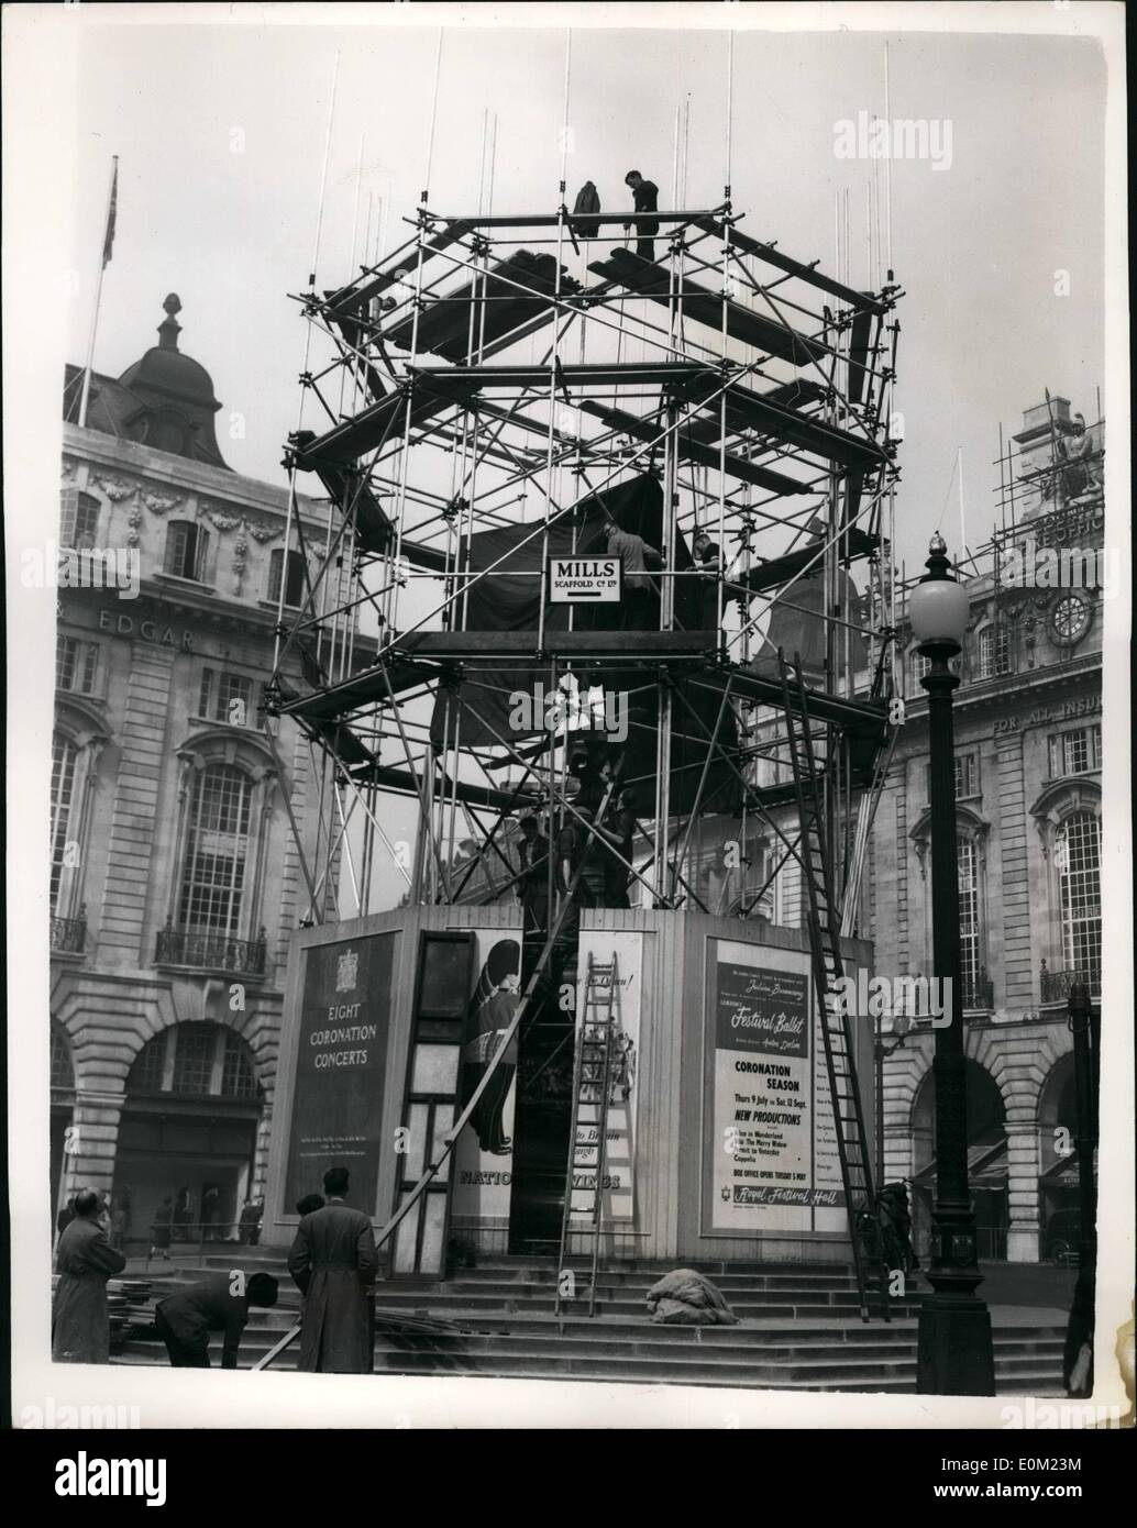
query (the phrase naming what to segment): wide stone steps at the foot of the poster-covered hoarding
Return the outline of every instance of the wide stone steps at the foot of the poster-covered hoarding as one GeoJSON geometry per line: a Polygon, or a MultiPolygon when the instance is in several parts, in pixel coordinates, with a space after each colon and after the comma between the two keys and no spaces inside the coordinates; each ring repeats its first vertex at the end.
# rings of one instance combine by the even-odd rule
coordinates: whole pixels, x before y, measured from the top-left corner
{"type": "MultiPolygon", "coordinates": [[[[284,1254],[272,1248],[254,1261],[281,1277],[280,1303],[251,1311],[241,1365],[263,1357],[295,1323],[300,1297],[284,1271],[284,1254]]],[[[171,1270],[162,1290],[193,1282],[203,1271],[231,1267],[209,1254],[202,1265],[171,1270]]],[[[841,1265],[703,1264],[737,1316],[738,1326],[663,1326],[648,1320],[645,1294],[666,1264],[619,1264],[598,1274],[598,1316],[579,1299],[553,1313],[555,1270],[549,1259],[484,1259],[445,1282],[381,1280],[381,1313],[422,1314],[452,1322],[454,1331],[431,1335],[376,1337],[374,1372],[382,1375],[518,1377],[591,1380],[596,1383],[715,1384],[746,1389],[914,1394],[920,1294],[892,1302],[892,1322],[862,1322],[853,1276],[841,1265]],[[714,1271],[712,1271],[714,1270],[714,1271]]],[[[587,1293],[587,1270],[582,1285],[587,1293]]],[[[1039,1313],[1041,1314],[1041,1313],[1039,1313]]],[[[999,1394],[1061,1395],[1064,1326],[1044,1317],[1038,1325],[995,1329],[999,1394]]],[[[293,1343],[274,1369],[295,1369],[293,1343]]],[[[165,1349],[139,1334],[122,1361],[165,1363],[165,1349]]],[[[220,1342],[214,1363],[220,1361],[220,1342]]]]}

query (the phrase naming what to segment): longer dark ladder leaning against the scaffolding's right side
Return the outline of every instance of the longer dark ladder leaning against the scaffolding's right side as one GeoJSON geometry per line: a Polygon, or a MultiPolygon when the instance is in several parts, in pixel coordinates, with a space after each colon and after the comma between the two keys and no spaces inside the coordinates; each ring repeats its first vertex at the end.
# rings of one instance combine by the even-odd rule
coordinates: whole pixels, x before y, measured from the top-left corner
{"type": "Polygon", "coordinates": [[[801,660],[796,660],[796,680],[790,683],[790,666],[786,654],[778,649],[781,669],[786,730],[789,736],[790,767],[798,796],[801,822],[801,877],[805,886],[805,912],[813,960],[813,983],[821,1010],[821,1034],[825,1050],[830,1099],[833,1100],[833,1123],[841,1160],[841,1181],[845,1190],[850,1244],[853,1247],[853,1271],[857,1280],[860,1319],[870,1319],[868,1268],[877,1277],[880,1291],[880,1314],[889,1320],[888,1268],[883,1261],[883,1245],[877,1224],[876,1195],[873,1192],[873,1167],[865,1134],[865,1115],[857,1088],[853,1062],[853,1027],[847,1010],[834,1012],[836,984],[844,976],[841,953],[841,921],[833,892],[833,863],[825,837],[825,792],[822,776],[813,753],[813,736],[807,703],[805,681],[801,675],[801,660]]]}

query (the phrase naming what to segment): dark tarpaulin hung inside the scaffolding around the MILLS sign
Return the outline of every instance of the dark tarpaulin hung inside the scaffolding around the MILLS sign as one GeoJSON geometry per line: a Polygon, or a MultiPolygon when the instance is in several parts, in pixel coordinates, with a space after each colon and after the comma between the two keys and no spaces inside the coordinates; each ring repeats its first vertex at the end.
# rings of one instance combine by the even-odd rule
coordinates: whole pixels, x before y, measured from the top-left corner
{"type": "MultiPolygon", "coordinates": [[[[565,556],[572,552],[585,555],[607,552],[605,509],[620,530],[642,536],[648,545],[660,549],[663,541],[663,490],[659,478],[642,474],[605,489],[602,494],[590,495],[570,515],[555,521],[549,527],[549,556],[565,556]]],[[[478,532],[471,538],[471,571],[477,573],[492,567],[498,559],[501,562],[494,573],[488,573],[471,587],[463,622],[465,631],[532,631],[535,634],[533,646],[536,646],[538,602],[544,588],[544,568],[541,564],[543,538],[539,533],[533,535],[533,526],[506,526],[478,532]],[[527,536],[529,541],[526,541],[527,536]],[[529,573],[530,576],[517,578],[517,573],[529,573]]],[[[680,571],[692,567],[691,553],[682,536],[675,547],[675,567],[680,571]]],[[[643,602],[640,611],[639,625],[642,630],[659,628],[659,587],[657,581],[653,582],[651,597],[643,602]]],[[[677,579],[675,626],[688,631],[698,630],[701,602],[703,594],[695,579],[677,579]]],[[[576,611],[575,626],[578,631],[625,628],[627,611],[617,605],[546,605],[546,630],[567,631],[570,608],[576,611]]],[[[677,674],[677,695],[672,706],[671,810],[688,811],[698,790],[709,735],[714,732],[718,717],[720,697],[706,689],[686,686],[680,677],[682,669],[672,672],[677,674]]],[[[532,695],[536,683],[543,681],[547,688],[549,678],[549,665],[536,662],[513,668],[503,668],[494,659],[468,662],[463,665],[463,683],[458,691],[462,704],[454,704],[445,691],[439,692],[431,736],[439,744],[448,735],[452,740],[454,715],[460,715],[458,743],[462,747],[492,747],[500,740],[520,747],[526,738],[538,735],[541,718],[536,718],[538,727],[533,732],[515,730],[510,726],[509,695],[515,691],[532,695]],[[454,706],[454,714],[451,714],[451,706],[454,706]],[[451,721],[449,732],[446,730],[448,718],[451,721]]],[[[651,816],[659,767],[656,674],[645,663],[630,665],[627,669],[605,665],[604,688],[628,695],[630,727],[624,749],[622,781],[634,785],[637,814],[651,816]]],[[[718,744],[729,755],[737,753],[735,718],[729,704],[723,714],[718,744]]],[[[730,811],[737,810],[737,775],[715,756],[708,772],[703,808],[730,811]]]]}

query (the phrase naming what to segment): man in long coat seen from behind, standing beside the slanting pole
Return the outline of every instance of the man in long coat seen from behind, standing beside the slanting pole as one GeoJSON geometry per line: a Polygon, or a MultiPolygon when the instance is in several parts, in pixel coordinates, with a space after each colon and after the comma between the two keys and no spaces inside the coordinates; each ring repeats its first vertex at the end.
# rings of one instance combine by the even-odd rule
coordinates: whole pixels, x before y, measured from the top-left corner
{"type": "Polygon", "coordinates": [[[368,1294],[379,1270],[371,1221],[344,1204],[347,1167],[324,1174],[327,1204],[306,1215],[289,1253],[304,1296],[300,1368],[309,1374],[370,1374],[374,1363],[368,1294]]]}

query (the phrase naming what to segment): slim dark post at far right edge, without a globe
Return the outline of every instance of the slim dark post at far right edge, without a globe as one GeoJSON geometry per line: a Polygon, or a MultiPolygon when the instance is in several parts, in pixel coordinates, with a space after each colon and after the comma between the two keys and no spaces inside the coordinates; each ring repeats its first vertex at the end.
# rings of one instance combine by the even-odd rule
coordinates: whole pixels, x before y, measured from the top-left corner
{"type": "Polygon", "coordinates": [[[1097,1274],[1097,1027],[1090,989],[1076,981],[1067,1005],[1074,1036],[1074,1106],[1077,1109],[1077,1282],[1062,1368],[1070,1395],[1091,1395],[1094,1387],[1094,1284],[1097,1274]]]}

